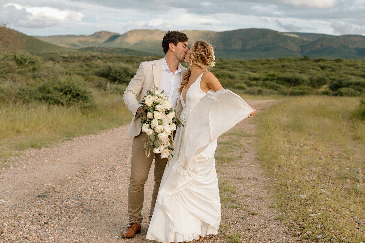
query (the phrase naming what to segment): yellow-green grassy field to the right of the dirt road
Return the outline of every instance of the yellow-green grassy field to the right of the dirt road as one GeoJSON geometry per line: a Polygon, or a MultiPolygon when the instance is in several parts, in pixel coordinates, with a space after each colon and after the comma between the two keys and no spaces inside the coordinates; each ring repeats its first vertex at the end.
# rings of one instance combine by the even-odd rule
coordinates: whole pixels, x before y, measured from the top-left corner
{"type": "Polygon", "coordinates": [[[257,117],[259,156],[282,211],[278,217],[300,239],[365,241],[365,122],[353,116],[358,103],[295,97],[257,117]]]}

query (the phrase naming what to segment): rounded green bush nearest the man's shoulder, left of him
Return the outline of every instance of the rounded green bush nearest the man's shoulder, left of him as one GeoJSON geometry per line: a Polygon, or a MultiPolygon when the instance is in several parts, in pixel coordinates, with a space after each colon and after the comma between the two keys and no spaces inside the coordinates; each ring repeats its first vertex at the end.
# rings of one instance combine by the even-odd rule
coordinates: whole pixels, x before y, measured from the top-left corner
{"type": "Polygon", "coordinates": [[[125,64],[108,63],[96,71],[96,75],[107,78],[110,82],[127,84],[134,77],[135,72],[125,64]]]}

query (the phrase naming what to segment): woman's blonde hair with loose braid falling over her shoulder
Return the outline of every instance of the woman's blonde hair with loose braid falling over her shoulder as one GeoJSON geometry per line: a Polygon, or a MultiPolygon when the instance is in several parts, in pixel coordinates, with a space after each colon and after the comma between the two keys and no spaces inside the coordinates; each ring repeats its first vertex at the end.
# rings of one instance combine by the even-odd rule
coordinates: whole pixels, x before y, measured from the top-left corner
{"type": "MultiPolygon", "coordinates": [[[[214,49],[211,46],[211,44],[203,41],[198,40],[194,42],[190,46],[190,56],[188,57],[188,64],[190,66],[197,66],[200,68],[207,68],[209,69],[209,64],[212,59],[212,55],[214,53],[214,49]]],[[[191,75],[190,68],[187,68],[183,81],[181,81],[181,87],[179,89],[179,93],[181,93],[185,87],[185,85],[188,83],[188,80],[191,75]]]]}

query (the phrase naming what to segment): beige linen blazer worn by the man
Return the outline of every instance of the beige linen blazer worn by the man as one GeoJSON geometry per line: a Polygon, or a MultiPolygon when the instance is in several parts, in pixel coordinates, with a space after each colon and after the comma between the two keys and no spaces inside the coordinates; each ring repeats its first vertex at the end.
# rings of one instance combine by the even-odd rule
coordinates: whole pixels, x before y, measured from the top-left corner
{"type": "MultiPolygon", "coordinates": [[[[162,79],[162,62],[162,59],[150,62],[142,62],[141,65],[139,65],[139,68],[131,82],[128,84],[127,89],[124,91],[124,103],[126,103],[128,110],[134,117],[131,121],[131,124],[129,125],[127,136],[135,137],[141,133],[141,127],[139,126],[141,124],[141,120],[136,115],[137,110],[141,106],[139,105],[139,102],[142,101],[148,90],[151,90],[154,87],[158,87],[158,89],[160,89],[162,79]],[[138,94],[141,94],[139,102],[137,101],[138,94]]],[[[181,69],[181,78],[183,78],[186,68],[180,63],[179,65],[181,69]]],[[[178,117],[180,116],[182,110],[183,106],[181,105],[179,95],[177,98],[176,107],[178,117]]]]}

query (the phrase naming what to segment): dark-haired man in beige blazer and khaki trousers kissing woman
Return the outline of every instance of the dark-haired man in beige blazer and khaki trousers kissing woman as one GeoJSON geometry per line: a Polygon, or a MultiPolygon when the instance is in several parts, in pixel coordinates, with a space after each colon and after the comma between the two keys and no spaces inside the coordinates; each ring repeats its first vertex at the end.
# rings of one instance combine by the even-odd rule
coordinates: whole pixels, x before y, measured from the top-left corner
{"type": "Polygon", "coordinates": [[[164,174],[167,163],[167,158],[162,159],[160,154],[152,153],[146,158],[145,148],[143,148],[145,141],[142,141],[142,138],[147,138],[148,136],[141,131],[141,127],[139,126],[141,124],[139,117],[143,113],[143,109],[137,101],[137,96],[140,94],[141,101],[146,95],[147,90],[158,87],[160,91],[165,91],[164,94],[169,97],[174,109],[177,109],[178,114],[181,114],[183,107],[180,103],[178,89],[180,88],[181,79],[186,68],[181,66],[179,62],[184,62],[185,54],[188,51],[187,41],[188,37],[184,33],[178,31],[167,32],[162,40],[162,49],[166,56],[160,60],[142,62],[123,94],[124,102],[128,110],[134,115],[127,131],[127,135],[134,138],[132,144],[131,175],[128,187],[129,224],[122,234],[124,238],[132,238],[135,234],[141,232],[143,187],[147,181],[153,158],[155,159],[155,185],[152,193],[149,220],[152,217],[158,188],[160,187],[162,175],[164,174]]]}

